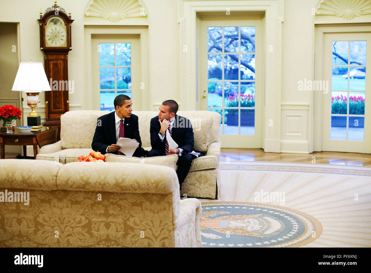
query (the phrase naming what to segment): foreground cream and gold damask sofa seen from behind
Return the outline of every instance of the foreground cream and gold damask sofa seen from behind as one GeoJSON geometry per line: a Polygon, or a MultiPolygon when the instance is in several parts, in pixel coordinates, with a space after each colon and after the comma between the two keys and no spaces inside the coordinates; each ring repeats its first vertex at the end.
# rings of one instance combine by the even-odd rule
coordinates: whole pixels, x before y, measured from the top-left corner
{"type": "Polygon", "coordinates": [[[0,202],[0,247],[202,245],[201,202],[179,198],[170,167],[30,159],[0,165],[0,198],[29,192],[22,202],[0,202]]]}

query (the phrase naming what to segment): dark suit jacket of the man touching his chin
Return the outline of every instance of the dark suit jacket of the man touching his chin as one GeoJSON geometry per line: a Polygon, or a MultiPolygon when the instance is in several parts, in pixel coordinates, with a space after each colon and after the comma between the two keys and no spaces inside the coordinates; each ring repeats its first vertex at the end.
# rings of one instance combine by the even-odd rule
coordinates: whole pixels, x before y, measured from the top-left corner
{"type": "MultiPolygon", "coordinates": [[[[161,142],[158,132],[161,129],[158,116],[151,119],[150,133],[151,133],[151,146],[154,150],[165,150],[165,139],[161,142]]],[[[184,153],[190,153],[194,150],[194,137],[191,121],[188,118],[175,115],[173,130],[171,131],[173,140],[178,144],[178,148],[184,150],[184,153]]]]}

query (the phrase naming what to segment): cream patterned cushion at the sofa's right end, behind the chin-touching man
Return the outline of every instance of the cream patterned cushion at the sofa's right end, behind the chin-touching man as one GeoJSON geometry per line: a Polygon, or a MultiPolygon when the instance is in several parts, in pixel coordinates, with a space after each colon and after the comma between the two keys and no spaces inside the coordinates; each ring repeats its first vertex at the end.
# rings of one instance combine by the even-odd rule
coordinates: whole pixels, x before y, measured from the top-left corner
{"type": "Polygon", "coordinates": [[[213,118],[190,118],[193,134],[194,149],[206,153],[210,144],[211,127],[213,127],[213,118]]]}

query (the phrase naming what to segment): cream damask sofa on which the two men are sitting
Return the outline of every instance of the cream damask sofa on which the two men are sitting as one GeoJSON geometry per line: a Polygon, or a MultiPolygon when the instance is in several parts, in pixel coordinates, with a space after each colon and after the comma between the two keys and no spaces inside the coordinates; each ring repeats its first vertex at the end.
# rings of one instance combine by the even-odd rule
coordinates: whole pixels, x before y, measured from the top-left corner
{"type": "MultiPolygon", "coordinates": [[[[60,141],[43,146],[36,159],[58,160],[66,155],[67,162],[74,162],[81,155],[88,154],[97,119],[108,111],[69,111],[60,117],[60,141]]],[[[156,111],[133,111],[139,118],[139,133],[142,147],[151,150],[150,120],[156,111]]],[[[220,114],[214,111],[178,111],[180,116],[191,120],[194,132],[194,148],[206,156],[194,159],[185,178],[180,194],[189,197],[216,199],[220,192],[220,114]]]]}

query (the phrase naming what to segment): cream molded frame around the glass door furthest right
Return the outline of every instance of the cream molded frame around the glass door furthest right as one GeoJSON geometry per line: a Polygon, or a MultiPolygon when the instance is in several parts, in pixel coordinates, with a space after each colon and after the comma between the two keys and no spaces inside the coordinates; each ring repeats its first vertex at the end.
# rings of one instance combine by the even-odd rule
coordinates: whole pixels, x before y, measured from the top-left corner
{"type": "MultiPolygon", "coordinates": [[[[324,70],[324,35],[326,33],[357,33],[357,32],[371,32],[370,23],[352,23],[352,24],[316,24],[314,25],[314,79],[323,79],[324,70]]],[[[331,92],[329,86],[328,92],[331,92]]],[[[322,151],[322,92],[313,91],[313,150],[312,152],[322,151]]],[[[310,152],[310,151],[309,151],[310,152]]]]}

